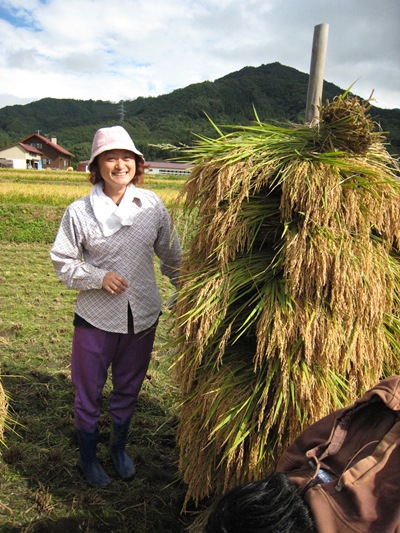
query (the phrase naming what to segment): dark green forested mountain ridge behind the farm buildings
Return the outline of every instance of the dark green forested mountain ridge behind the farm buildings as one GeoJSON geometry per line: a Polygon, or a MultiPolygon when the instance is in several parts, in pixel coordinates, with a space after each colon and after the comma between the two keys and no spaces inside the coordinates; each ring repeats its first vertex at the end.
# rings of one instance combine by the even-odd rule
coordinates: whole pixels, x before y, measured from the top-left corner
{"type": "MultiPolygon", "coordinates": [[[[308,78],[296,69],[271,63],[245,67],[214,82],[196,83],[158,97],[119,103],[44,98],[7,106],[0,109],[0,146],[40,131],[56,137],[58,144],[74,154],[76,163],[89,157],[97,128],[121,124],[146,159],[166,159],[171,154],[157,145],[193,144],[195,134],[215,136],[207,115],[219,126],[249,124],[255,120],[254,109],[263,122],[303,122],[308,78]]],[[[332,100],[345,89],[325,81],[322,100],[332,100]]],[[[398,154],[400,109],[372,107],[370,114],[388,132],[388,149],[398,154]]]]}

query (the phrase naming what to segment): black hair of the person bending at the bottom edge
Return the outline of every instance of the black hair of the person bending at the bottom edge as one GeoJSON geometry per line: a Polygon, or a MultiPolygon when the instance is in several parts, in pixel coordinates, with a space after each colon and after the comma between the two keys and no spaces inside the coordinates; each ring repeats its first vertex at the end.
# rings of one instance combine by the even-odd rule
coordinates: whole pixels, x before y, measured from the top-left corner
{"type": "Polygon", "coordinates": [[[285,474],[228,491],[216,503],[206,533],[316,533],[311,512],[285,474]]]}

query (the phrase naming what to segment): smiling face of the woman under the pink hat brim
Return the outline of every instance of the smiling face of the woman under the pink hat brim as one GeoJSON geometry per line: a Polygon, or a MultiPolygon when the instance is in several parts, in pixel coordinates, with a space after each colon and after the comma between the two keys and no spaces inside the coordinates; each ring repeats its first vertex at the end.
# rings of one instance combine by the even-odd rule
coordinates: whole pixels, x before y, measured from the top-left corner
{"type": "Polygon", "coordinates": [[[135,177],[135,154],[129,150],[108,150],[99,155],[98,162],[104,191],[124,188],[135,177]]]}

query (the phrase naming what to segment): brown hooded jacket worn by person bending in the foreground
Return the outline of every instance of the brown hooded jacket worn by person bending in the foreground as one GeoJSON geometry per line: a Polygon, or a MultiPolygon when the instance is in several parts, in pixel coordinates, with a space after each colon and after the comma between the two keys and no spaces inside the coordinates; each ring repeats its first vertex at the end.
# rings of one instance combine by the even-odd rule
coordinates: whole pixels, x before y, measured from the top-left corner
{"type": "Polygon", "coordinates": [[[319,533],[400,533],[400,376],[306,429],[277,470],[304,491],[319,533]]]}

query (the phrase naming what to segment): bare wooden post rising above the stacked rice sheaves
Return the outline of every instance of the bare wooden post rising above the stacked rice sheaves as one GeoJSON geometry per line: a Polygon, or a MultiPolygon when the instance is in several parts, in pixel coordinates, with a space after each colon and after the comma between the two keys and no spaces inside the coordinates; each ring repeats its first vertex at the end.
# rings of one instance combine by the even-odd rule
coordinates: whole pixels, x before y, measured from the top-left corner
{"type": "Polygon", "coordinates": [[[310,77],[308,80],[306,122],[313,126],[319,120],[318,106],[322,101],[324,83],[325,56],[328,43],[328,24],[314,27],[314,39],[311,54],[310,77]]]}

